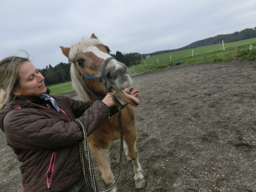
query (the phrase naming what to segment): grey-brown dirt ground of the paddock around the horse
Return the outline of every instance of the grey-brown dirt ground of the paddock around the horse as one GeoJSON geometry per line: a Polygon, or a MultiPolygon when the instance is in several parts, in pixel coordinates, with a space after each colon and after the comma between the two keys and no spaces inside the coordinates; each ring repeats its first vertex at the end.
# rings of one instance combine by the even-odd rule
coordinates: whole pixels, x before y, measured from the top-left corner
{"type": "MultiPolygon", "coordinates": [[[[118,191],[256,191],[256,62],[189,64],[135,75],[137,149],[147,180],[124,160],[118,191]]],[[[21,191],[0,132],[0,191],[21,191]]],[[[111,146],[113,169],[119,143],[111,146]]],[[[116,171],[114,171],[116,173],[116,171]]]]}

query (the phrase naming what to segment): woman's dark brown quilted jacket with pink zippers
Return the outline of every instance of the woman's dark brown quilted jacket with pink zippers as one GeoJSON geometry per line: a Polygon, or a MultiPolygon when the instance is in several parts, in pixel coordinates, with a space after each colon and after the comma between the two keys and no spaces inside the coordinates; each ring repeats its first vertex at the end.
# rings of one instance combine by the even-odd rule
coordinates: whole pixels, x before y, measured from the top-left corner
{"type": "Polygon", "coordinates": [[[17,97],[0,111],[0,126],[19,161],[24,191],[62,191],[82,178],[78,144],[108,117],[102,101],[53,96],[60,112],[41,96],[17,97]]]}

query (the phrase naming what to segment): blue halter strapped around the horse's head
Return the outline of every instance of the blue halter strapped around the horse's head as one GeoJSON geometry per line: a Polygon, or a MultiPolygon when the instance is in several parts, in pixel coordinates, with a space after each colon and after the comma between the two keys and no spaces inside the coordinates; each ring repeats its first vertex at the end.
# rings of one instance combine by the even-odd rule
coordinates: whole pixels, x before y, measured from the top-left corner
{"type": "Polygon", "coordinates": [[[78,70],[78,73],[81,75],[82,77],[82,81],[84,82],[84,85],[86,86],[86,88],[90,91],[91,95],[93,95],[93,97],[96,99],[96,100],[101,100],[99,97],[97,97],[97,95],[95,95],[95,93],[93,93],[93,91],[91,91],[91,89],[89,88],[89,86],[87,86],[86,82],[84,81],[84,79],[87,79],[87,80],[95,80],[97,82],[102,82],[102,84],[104,84],[104,87],[106,88],[106,91],[108,93],[110,93],[110,91],[108,90],[108,86],[106,85],[106,77],[105,77],[105,69],[106,69],[106,66],[108,65],[108,62],[110,60],[114,60],[115,58],[113,57],[109,57],[105,60],[104,62],[104,65],[102,67],[102,75],[100,75],[100,77],[95,77],[95,76],[91,76],[91,75],[86,75],[84,73],[82,73],[81,71],[78,70]]]}

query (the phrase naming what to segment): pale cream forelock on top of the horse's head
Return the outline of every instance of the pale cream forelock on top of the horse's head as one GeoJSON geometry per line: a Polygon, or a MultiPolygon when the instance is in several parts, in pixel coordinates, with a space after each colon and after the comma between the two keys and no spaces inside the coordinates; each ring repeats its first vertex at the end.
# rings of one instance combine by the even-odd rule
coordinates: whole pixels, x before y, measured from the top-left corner
{"type": "Polygon", "coordinates": [[[78,53],[84,52],[84,50],[88,47],[99,44],[102,44],[102,42],[97,38],[82,38],[78,43],[71,45],[69,51],[69,59],[73,60],[78,53]]]}

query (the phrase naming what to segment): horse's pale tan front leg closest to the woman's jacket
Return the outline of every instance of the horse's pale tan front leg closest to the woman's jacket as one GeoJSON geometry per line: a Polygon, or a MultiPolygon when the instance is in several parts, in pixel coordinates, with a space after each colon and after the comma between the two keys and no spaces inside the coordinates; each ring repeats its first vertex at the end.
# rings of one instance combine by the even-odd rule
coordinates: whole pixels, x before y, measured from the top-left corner
{"type": "MultiPolygon", "coordinates": [[[[102,180],[106,187],[111,187],[115,178],[110,169],[110,158],[109,158],[109,149],[108,148],[97,148],[95,145],[90,143],[91,154],[95,158],[97,165],[100,168],[100,172],[102,173],[102,180]]],[[[112,189],[110,192],[116,192],[116,187],[112,189]]]]}

